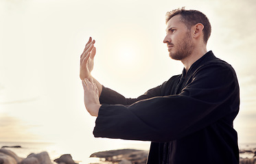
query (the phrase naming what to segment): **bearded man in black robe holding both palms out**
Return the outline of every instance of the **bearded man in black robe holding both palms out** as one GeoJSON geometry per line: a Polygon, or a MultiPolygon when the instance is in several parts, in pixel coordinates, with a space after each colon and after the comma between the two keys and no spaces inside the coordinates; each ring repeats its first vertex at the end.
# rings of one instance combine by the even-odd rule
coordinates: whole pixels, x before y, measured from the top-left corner
{"type": "Polygon", "coordinates": [[[184,8],[167,12],[170,57],[182,74],[138,98],[124,98],[91,76],[95,40],[81,55],[84,105],[97,117],[95,137],[152,141],[148,163],[239,163],[233,129],[240,105],[233,68],[207,52],[211,25],[205,14],[184,8]]]}

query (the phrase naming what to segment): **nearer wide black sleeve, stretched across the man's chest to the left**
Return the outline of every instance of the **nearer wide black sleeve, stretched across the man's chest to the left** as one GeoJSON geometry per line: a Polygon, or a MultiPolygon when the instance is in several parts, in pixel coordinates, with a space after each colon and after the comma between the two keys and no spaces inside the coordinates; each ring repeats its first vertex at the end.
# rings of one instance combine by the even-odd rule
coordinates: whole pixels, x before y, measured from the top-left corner
{"type": "Polygon", "coordinates": [[[231,66],[209,64],[198,68],[191,78],[181,94],[139,100],[129,106],[102,105],[93,134],[171,141],[199,131],[226,115],[236,115],[233,113],[239,108],[239,86],[231,66]]]}

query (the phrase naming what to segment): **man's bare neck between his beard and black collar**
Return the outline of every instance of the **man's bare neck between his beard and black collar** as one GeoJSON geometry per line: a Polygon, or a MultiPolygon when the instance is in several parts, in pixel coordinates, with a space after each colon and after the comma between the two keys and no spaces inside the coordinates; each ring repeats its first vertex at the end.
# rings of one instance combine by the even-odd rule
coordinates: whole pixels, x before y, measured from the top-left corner
{"type": "Polygon", "coordinates": [[[200,59],[200,57],[205,55],[205,53],[207,53],[206,46],[203,49],[202,47],[200,47],[200,49],[194,49],[194,51],[188,57],[182,59],[181,62],[183,63],[186,72],[189,70],[192,64],[200,59]]]}

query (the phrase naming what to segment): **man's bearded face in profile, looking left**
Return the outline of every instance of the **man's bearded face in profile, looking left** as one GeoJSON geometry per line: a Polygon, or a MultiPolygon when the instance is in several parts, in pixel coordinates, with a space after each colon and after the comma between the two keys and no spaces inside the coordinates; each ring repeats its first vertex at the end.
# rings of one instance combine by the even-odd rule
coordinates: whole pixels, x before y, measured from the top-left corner
{"type": "Polygon", "coordinates": [[[183,60],[194,50],[190,30],[181,20],[181,15],[172,17],[167,22],[166,36],[163,40],[167,44],[172,59],[183,60]]]}

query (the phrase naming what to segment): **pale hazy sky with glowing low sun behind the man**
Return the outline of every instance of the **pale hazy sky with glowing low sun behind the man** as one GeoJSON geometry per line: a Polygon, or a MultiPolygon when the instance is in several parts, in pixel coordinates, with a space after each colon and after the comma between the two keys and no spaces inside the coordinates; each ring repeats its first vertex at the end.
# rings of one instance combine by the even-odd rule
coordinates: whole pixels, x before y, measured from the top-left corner
{"type": "Polygon", "coordinates": [[[256,143],[254,0],[1,0],[0,141],[99,150],[125,143],[93,137],[95,118],[84,108],[79,78],[84,45],[90,36],[96,40],[93,77],[137,97],[181,74],[183,65],[170,59],[163,38],[165,13],[183,6],[208,16],[207,50],[229,62],[240,83],[239,142],[256,143]]]}

